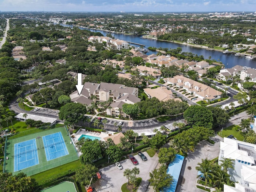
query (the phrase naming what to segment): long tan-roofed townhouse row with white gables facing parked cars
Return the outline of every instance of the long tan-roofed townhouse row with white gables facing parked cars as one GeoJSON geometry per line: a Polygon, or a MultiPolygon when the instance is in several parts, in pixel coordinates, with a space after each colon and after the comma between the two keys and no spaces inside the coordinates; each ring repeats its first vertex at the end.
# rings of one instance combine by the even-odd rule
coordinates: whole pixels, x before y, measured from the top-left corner
{"type": "Polygon", "coordinates": [[[194,94],[203,100],[213,101],[221,97],[222,92],[211,88],[205,84],[191,80],[184,76],[175,76],[173,78],[165,78],[168,84],[176,85],[178,88],[184,88],[188,93],[194,94]]]}

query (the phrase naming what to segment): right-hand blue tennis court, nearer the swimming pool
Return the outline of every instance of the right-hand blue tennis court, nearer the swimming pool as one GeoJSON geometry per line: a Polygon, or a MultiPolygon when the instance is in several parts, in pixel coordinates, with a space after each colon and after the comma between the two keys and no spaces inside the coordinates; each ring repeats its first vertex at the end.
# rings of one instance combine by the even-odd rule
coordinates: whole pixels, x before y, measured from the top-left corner
{"type": "Polygon", "coordinates": [[[47,161],[69,154],[61,132],[42,136],[42,139],[47,161]]]}

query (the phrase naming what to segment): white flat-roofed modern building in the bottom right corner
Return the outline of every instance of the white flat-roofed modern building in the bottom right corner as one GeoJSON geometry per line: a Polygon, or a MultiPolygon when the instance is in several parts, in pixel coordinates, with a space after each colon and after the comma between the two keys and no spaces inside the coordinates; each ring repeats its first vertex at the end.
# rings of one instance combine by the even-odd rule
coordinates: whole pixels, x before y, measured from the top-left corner
{"type": "MultiPolygon", "coordinates": [[[[228,170],[230,179],[239,185],[235,188],[225,187],[224,192],[245,192],[250,190],[234,190],[234,189],[256,189],[256,145],[233,140],[231,138],[224,137],[224,141],[220,142],[220,160],[223,158],[232,159],[234,162],[234,170],[228,170]],[[225,190],[226,189],[226,190],[225,190]]],[[[253,191],[253,190],[252,190],[253,191]]]]}

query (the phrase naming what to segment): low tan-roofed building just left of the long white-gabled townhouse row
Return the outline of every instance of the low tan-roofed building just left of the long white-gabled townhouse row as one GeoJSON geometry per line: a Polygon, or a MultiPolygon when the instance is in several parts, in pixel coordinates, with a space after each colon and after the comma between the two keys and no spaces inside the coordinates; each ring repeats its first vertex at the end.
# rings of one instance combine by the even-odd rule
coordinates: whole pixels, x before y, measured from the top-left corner
{"type": "MultiPolygon", "coordinates": [[[[172,91],[168,90],[168,88],[166,88],[165,86],[161,86],[155,89],[151,89],[151,88],[145,88],[143,89],[144,92],[146,93],[146,95],[148,96],[148,98],[158,98],[158,100],[160,101],[167,101],[169,99],[175,99],[172,96],[172,91]]],[[[180,98],[176,98],[175,100],[180,100],[180,98]]]]}

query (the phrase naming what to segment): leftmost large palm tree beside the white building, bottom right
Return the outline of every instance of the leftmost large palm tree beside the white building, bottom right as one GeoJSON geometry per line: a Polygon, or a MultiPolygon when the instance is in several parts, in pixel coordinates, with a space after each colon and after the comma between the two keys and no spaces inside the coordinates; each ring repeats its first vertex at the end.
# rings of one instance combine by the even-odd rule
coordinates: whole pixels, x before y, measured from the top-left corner
{"type": "Polygon", "coordinates": [[[199,166],[196,166],[196,170],[200,171],[202,174],[198,175],[198,178],[204,178],[205,179],[205,189],[206,184],[209,182],[212,182],[213,174],[212,174],[212,164],[210,160],[202,159],[202,163],[198,163],[199,166]]]}

